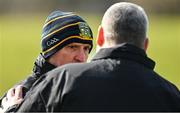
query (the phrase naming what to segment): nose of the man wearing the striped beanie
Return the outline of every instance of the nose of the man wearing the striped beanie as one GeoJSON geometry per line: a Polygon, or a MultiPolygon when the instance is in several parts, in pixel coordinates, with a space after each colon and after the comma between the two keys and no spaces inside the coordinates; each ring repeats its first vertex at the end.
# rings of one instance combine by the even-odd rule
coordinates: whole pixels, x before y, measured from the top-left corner
{"type": "Polygon", "coordinates": [[[76,59],[76,61],[78,61],[78,62],[86,62],[86,60],[87,60],[87,55],[86,55],[85,51],[84,51],[84,50],[79,50],[79,51],[77,52],[77,55],[76,55],[75,59],[76,59]]]}

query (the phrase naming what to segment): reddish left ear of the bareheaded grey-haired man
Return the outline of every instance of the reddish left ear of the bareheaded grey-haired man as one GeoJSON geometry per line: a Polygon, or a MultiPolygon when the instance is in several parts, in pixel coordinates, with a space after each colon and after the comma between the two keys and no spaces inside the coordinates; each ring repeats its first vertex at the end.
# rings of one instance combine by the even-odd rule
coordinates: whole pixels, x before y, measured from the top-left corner
{"type": "Polygon", "coordinates": [[[99,47],[102,47],[104,44],[104,30],[102,26],[99,26],[98,28],[98,35],[97,35],[96,43],[99,47]]]}

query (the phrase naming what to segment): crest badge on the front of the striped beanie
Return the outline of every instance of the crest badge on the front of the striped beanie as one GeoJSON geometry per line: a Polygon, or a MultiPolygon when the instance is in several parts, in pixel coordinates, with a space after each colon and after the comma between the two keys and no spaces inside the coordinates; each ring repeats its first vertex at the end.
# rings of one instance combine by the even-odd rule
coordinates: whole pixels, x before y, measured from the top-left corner
{"type": "Polygon", "coordinates": [[[91,30],[86,23],[80,22],[79,29],[81,31],[80,36],[85,37],[85,38],[92,38],[91,30]]]}

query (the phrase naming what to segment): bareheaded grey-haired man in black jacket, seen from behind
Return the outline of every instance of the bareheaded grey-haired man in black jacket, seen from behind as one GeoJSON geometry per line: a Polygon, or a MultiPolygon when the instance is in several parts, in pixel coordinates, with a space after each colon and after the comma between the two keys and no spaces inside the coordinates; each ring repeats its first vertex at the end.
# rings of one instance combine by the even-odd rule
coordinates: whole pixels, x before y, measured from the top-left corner
{"type": "Polygon", "coordinates": [[[148,18],[128,2],[107,9],[89,63],[44,74],[18,112],[179,112],[180,92],[147,56],[148,18]]]}

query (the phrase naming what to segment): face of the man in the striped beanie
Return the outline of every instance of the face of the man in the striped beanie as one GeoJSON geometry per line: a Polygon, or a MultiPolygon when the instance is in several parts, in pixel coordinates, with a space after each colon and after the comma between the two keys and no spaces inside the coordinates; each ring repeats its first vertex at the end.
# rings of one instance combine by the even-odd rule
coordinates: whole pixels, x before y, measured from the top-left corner
{"type": "Polygon", "coordinates": [[[86,62],[91,45],[71,43],[49,58],[49,63],[61,66],[68,63],[86,62]]]}

